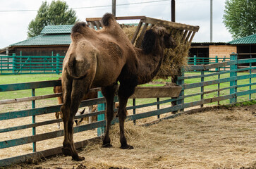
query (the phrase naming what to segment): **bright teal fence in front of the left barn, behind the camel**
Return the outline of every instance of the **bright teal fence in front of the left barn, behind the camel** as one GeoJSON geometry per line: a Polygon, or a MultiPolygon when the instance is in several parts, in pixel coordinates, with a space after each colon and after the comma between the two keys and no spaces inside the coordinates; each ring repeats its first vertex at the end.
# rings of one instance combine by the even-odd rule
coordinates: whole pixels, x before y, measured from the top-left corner
{"type": "Polygon", "coordinates": [[[61,73],[65,56],[0,56],[0,74],[61,73]]]}

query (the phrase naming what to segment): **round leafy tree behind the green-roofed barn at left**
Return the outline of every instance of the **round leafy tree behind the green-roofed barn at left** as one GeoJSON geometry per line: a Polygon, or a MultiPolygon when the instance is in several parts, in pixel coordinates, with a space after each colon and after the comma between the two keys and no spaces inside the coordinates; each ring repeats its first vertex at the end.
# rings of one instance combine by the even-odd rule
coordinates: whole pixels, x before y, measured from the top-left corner
{"type": "Polygon", "coordinates": [[[34,20],[28,25],[28,37],[40,35],[47,25],[72,25],[78,21],[75,11],[68,9],[65,1],[43,1],[34,20]]]}

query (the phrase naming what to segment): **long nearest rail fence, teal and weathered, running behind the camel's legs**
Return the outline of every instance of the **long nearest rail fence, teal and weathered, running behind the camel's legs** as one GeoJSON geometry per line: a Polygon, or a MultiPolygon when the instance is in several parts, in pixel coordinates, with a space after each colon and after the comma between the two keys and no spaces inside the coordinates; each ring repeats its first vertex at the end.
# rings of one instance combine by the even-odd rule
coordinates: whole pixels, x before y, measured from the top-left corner
{"type": "MultiPolygon", "coordinates": [[[[256,58],[237,60],[237,54],[231,54],[231,61],[209,65],[190,65],[186,70],[197,70],[197,72],[185,72],[181,77],[178,77],[177,84],[181,85],[183,88],[178,98],[155,98],[150,100],[130,99],[128,120],[133,120],[133,122],[136,123],[137,120],[142,118],[163,118],[162,115],[164,114],[164,118],[173,118],[187,111],[187,108],[202,108],[204,106],[219,104],[236,104],[240,101],[251,100],[256,96],[256,73],[252,72],[252,70],[255,69],[255,67],[251,66],[252,63],[256,63],[256,58]],[[249,63],[250,66],[248,68],[237,68],[237,65],[240,63],[249,63]],[[206,71],[209,69],[220,69],[225,66],[230,66],[230,69],[218,72],[206,71]],[[171,102],[176,102],[176,105],[171,106],[171,102]],[[154,108],[151,109],[151,111],[144,111],[142,113],[136,111],[138,108],[146,109],[146,107],[149,106],[154,108]],[[178,113],[171,115],[171,112],[174,111],[178,111],[178,113]]],[[[28,158],[51,156],[61,153],[63,141],[61,136],[63,136],[63,130],[47,130],[47,126],[55,125],[55,123],[61,122],[61,119],[41,119],[43,115],[51,115],[51,113],[59,111],[60,105],[35,107],[35,101],[37,103],[39,99],[61,96],[61,94],[35,96],[37,93],[35,90],[53,87],[59,84],[61,84],[60,80],[0,85],[1,93],[26,90],[31,94],[32,91],[32,96],[30,97],[0,101],[0,106],[18,104],[22,101],[32,102],[32,108],[15,111],[8,110],[0,113],[0,154],[5,154],[5,156],[1,156],[0,166],[26,161],[28,158]],[[25,123],[24,118],[29,118],[29,123],[25,123]],[[38,121],[37,118],[39,119],[38,121]],[[11,122],[13,122],[14,125],[6,127],[8,126],[6,124],[11,122]],[[21,134],[21,137],[15,137],[16,133],[23,133],[24,130],[29,130],[30,135],[21,134]],[[37,132],[37,130],[40,132],[37,132]],[[48,140],[50,142],[51,139],[54,139],[52,142],[57,143],[53,147],[47,149],[49,143],[44,143],[44,149],[37,148],[37,144],[40,142],[47,142],[48,140]],[[59,143],[58,139],[60,139],[59,143]],[[17,155],[20,151],[28,151],[28,148],[25,147],[28,144],[33,145],[33,149],[30,149],[31,152],[17,155]],[[16,156],[8,154],[11,151],[16,151],[16,156]]],[[[103,103],[104,98],[98,98],[83,101],[80,106],[83,107],[103,103]]],[[[97,111],[95,113],[79,115],[76,118],[85,118],[92,115],[101,115],[103,113],[104,111],[97,111]]],[[[54,117],[54,115],[51,115],[51,117],[54,117]]],[[[113,123],[117,122],[118,119],[113,120],[113,123]]],[[[104,126],[105,120],[100,120],[95,123],[76,126],[74,127],[74,133],[79,134],[80,132],[87,132],[104,126]]],[[[83,135],[82,138],[84,137],[85,135],[83,135]]],[[[75,136],[75,138],[80,137],[75,136]]],[[[75,145],[78,148],[85,145],[85,142],[87,142],[87,139],[82,139],[77,141],[75,145]]]]}

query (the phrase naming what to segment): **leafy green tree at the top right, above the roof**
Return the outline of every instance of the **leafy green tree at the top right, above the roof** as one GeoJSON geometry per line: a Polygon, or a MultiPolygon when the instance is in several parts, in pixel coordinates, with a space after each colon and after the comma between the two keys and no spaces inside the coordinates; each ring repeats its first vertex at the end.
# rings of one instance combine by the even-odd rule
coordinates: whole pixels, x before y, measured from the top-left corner
{"type": "Polygon", "coordinates": [[[234,39],[255,34],[255,18],[255,0],[226,0],[223,22],[234,39]]]}

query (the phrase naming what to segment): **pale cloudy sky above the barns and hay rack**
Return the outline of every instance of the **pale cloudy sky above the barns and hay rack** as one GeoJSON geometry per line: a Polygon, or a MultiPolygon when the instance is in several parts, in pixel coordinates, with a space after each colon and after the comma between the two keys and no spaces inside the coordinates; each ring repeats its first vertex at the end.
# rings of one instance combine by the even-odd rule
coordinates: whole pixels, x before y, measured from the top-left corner
{"type": "MultiPolygon", "coordinates": [[[[49,4],[51,1],[47,0],[49,4]]],[[[111,13],[112,0],[66,0],[66,3],[81,21],[111,13]]],[[[0,4],[0,49],[3,49],[28,38],[28,25],[37,15],[42,0],[0,0],[0,4]]],[[[225,0],[213,0],[213,42],[232,40],[223,23],[224,8],[225,0]]],[[[116,0],[116,16],[133,15],[171,20],[171,0],[116,0]]],[[[176,0],[176,23],[199,25],[193,42],[210,42],[210,0],[176,0]]]]}

